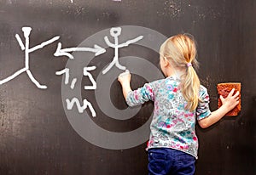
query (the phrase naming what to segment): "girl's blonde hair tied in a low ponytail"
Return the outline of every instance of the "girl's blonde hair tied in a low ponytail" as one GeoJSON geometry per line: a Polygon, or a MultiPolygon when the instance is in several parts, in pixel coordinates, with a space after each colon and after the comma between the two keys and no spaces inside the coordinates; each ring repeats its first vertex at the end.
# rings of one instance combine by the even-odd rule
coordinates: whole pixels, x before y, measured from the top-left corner
{"type": "Polygon", "coordinates": [[[195,40],[188,34],[170,37],[160,47],[160,55],[166,58],[175,70],[186,70],[181,79],[184,99],[188,102],[186,110],[195,110],[199,101],[200,80],[194,67],[196,60],[195,40]],[[193,66],[190,66],[192,64],[193,66]]]}

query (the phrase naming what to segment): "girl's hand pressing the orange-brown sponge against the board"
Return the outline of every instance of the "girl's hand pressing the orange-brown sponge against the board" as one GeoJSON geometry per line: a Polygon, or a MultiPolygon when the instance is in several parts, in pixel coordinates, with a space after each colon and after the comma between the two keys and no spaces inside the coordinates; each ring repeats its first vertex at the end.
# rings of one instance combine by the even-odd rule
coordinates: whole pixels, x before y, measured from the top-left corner
{"type": "Polygon", "coordinates": [[[239,91],[236,92],[235,95],[233,95],[235,92],[235,88],[233,88],[226,99],[224,99],[223,96],[220,95],[221,103],[224,105],[224,107],[227,110],[233,110],[233,108],[236,107],[237,104],[239,104],[239,91]]]}

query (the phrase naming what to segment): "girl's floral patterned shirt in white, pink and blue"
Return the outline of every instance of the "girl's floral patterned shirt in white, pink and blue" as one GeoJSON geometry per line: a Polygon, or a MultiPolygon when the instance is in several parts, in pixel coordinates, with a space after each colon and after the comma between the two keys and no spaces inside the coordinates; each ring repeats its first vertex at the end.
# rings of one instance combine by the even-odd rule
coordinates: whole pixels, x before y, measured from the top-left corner
{"type": "Polygon", "coordinates": [[[154,116],[150,125],[150,148],[172,148],[181,150],[197,159],[198,139],[195,134],[195,120],[210,116],[207,88],[201,86],[197,109],[185,109],[187,104],[181,92],[180,80],[172,76],[146,83],[143,88],[131,91],[126,97],[129,106],[154,101],[154,116]]]}

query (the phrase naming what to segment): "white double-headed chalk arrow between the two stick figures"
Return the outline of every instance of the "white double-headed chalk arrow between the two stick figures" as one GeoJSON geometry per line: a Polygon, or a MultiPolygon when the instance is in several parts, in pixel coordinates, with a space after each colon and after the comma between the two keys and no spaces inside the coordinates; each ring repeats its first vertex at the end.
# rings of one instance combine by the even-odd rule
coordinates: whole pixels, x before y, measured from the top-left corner
{"type": "Polygon", "coordinates": [[[70,52],[92,52],[96,56],[106,52],[105,48],[102,48],[98,45],[94,45],[94,48],[61,48],[61,42],[58,43],[58,47],[55,51],[55,56],[67,56],[69,59],[73,59],[73,55],[69,54],[70,52]]]}

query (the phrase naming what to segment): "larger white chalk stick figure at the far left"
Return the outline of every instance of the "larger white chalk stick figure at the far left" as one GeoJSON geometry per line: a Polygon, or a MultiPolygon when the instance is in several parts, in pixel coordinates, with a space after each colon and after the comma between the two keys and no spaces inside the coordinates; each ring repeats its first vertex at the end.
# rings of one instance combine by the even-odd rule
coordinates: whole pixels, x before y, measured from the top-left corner
{"type": "Polygon", "coordinates": [[[49,45],[52,42],[55,42],[56,40],[58,40],[60,37],[53,37],[52,39],[49,39],[46,42],[42,42],[41,44],[33,47],[33,48],[29,48],[29,36],[30,33],[32,31],[31,27],[22,27],[22,31],[25,37],[25,45],[24,43],[21,41],[21,38],[18,34],[15,35],[17,42],[20,45],[20,48],[22,51],[25,51],[25,67],[23,67],[22,69],[20,69],[19,71],[16,71],[13,75],[3,79],[0,81],[0,85],[5,83],[5,82],[9,82],[10,80],[14,79],[16,76],[19,76],[21,73],[26,72],[26,74],[28,75],[28,77],[31,79],[31,81],[38,87],[38,88],[47,88],[47,86],[45,85],[41,85],[35,78],[34,76],[32,76],[32,72],[29,70],[29,54],[40,49],[40,48],[44,48],[44,46],[49,45]]]}

